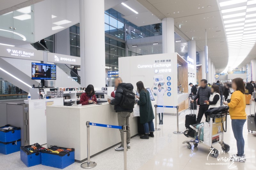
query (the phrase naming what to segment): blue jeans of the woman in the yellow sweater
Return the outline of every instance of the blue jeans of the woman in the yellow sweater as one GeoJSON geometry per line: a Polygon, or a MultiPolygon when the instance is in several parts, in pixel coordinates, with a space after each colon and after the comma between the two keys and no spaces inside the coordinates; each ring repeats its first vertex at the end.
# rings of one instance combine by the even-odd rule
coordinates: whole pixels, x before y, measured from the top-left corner
{"type": "Polygon", "coordinates": [[[232,119],[231,125],[232,130],[236,139],[236,147],[238,156],[244,155],[244,137],[243,137],[243,127],[246,119],[232,119]]]}

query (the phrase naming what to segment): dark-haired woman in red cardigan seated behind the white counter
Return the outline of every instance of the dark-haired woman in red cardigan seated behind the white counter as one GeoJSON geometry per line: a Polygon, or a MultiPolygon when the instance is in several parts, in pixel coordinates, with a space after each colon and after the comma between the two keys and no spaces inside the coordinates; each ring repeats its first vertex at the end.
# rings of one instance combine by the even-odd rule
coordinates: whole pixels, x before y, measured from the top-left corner
{"type": "Polygon", "coordinates": [[[95,91],[93,85],[88,85],[85,89],[85,93],[83,93],[80,97],[79,104],[89,105],[97,103],[97,99],[95,96],[95,91]]]}

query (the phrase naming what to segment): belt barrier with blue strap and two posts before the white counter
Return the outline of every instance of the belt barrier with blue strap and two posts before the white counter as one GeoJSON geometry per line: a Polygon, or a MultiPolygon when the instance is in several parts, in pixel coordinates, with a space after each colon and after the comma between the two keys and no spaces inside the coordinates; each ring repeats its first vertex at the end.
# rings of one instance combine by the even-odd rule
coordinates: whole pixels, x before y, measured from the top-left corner
{"type": "Polygon", "coordinates": [[[81,164],[81,167],[84,169],[90,169],[95,166],[97,166],[96,162],[91,162],[90,161],[90,125],[92,126],[99,126],[99,127],[104,127],[104,128],[113,128],[113,129],[122,129],[124,130],[124,170],[127,170],[127,157],[126,157],[126,152],[127,152],[127,144],[126,144],[126,125],[124,126],[116,126],[116,125],[107,125],[107,124],[100,124],[100,123],[91,123],[89,121],[86,122],[86,127],[87,127],[87,162],[81,164]]]}

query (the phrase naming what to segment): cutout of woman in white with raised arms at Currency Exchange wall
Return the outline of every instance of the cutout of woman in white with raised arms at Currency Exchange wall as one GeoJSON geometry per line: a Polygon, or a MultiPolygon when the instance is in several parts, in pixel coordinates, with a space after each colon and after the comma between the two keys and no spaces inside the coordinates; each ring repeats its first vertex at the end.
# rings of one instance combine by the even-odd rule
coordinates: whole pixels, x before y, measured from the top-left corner
{"type": "MultiPolygon", "coordinates": [[[[156,83],[154,83],[154,85],[155,84],[156,83]]],[[[156,95],[157,95],[156,104],[159,105],[159,106],[164,106],[164,93],[167,91],[167,87],[164,83],[165,89],[162,89],[162,85],[161,85],[161,83],[159,83],[158,84],[158,89],[153,89],[154,85],[152,86],[151,91],[156,93],[156,95]]],[[[159,116],[159,124],[163,124],[164,107],[157,107],[156,112],[158,113],[158,116],[159,116]],[[162,115],[162,120],[161,120],[160,113],[162,115]]]]}

